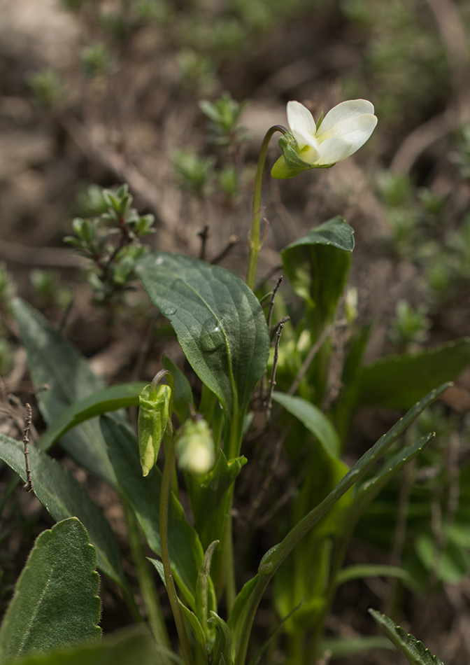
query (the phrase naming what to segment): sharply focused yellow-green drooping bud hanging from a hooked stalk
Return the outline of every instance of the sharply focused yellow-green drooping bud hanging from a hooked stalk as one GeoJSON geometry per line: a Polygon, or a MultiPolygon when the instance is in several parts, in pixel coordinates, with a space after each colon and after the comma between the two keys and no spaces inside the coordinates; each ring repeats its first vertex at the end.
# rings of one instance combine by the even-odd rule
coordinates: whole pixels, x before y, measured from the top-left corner
{"type": "Polygon", "coordinates": [[[170,418],[171,388],[149,384],[138,395],[138,451],[142,475],[148,475],[157,462],[158,451],[170,418]]]}

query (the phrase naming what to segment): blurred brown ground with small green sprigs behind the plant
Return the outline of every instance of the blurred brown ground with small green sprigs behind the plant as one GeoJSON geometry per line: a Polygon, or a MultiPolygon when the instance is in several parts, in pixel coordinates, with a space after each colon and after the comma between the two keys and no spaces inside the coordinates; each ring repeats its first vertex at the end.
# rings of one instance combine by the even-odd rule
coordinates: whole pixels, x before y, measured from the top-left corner
{"type": "MultiPolygon", "coordinates": [[[[155,374],[162,342],[149,337],[145,295],[129,292],[118,318],[94,307],[84,262],[64,236],[73,218],[106,209],[101,188],[129,183],[138,211],[155,215],[153,248],[211,260],[230,245],[221,265],[244,276],[259,147],[269,127],[287,124],[291,99],[315,120],[346,99],[369,99],[378,127],[334,169],[291,181],[273,181],[266,169],[260,284],[277,276],[283,247],[340,214],[355,229],[359,321],[376,322],[366,360],[468,335],[469,29],[469,0],[0,0],[0,375],[8,391],[30,387],[8,311],[13,293],[108,381],[155,374]],[[229,109],[229,131],[208,117],[207,102],[229,109]]],[[[272,139],[269,168],[278,155],[272,139]]],[[[178,354],[171,335],[164,343],[178,354]]],[[[470,374],[446,394],[438,427],[443,441],[453,430],[454,450],[468,458],[470,374]]],[[[373,442],[384,420],[390,414],[363,415],[359,439],[373,442]]],[[[103,496],[101,505],[119,531],[115,501],[103,496]]],[[[24,527],[24,552],[39,526],[24,527]]],[[[374,528],[363,525],[369,542],[374,528]]],[[[467,558],[439,580],[444,590],[433,587],[434,601],[404,601],[415,634],[449,663],[470,653],[466,537],[467,558]]],[[[361,584],[336,608],[334,633],[363,630],[353,626],[358,598],[368,606],[380,584],[361,584]]],[[[106,602],[115,601],[105,594],[106,602]]]]}

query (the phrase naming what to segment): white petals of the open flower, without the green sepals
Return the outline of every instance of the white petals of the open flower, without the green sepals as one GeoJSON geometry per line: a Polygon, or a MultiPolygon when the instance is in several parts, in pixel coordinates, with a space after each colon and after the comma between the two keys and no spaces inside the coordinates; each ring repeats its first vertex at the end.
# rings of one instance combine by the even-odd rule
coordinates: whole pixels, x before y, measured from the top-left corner
{"type": "Polygon", "coordinates": [[[297,141],[299,158],[313,167],[325,167],[359,150],[375,129],[377,118],[371,102],[352,99],[334,106],[319,127],[303,104],[288,102],[287,122],[297,141]]]}

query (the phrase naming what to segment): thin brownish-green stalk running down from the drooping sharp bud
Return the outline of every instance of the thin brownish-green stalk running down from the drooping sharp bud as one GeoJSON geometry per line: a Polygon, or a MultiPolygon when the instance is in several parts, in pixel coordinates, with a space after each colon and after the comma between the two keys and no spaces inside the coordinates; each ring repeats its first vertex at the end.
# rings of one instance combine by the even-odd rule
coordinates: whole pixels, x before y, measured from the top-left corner
{"type": "MultiPolygon", "coordinates": [[[[166,436],[166,435],[165,435],[166,436]]],[[[166,591],[168,593],[171,611],[176,623],[176,630],[180,638],[180,647],[186,665],[193,665],[190,640],[187,637],[183,614],[180,610],[178,594],[176,593],[173,573],[171,573],[170,555],[168,549],[168,513],[170,504],[171,477],[176,462],[176,447],[174,439],[166,448],[166,459],[160,490],[160,547],[162,548],[162,563],[165,575],[166,591]]]]}

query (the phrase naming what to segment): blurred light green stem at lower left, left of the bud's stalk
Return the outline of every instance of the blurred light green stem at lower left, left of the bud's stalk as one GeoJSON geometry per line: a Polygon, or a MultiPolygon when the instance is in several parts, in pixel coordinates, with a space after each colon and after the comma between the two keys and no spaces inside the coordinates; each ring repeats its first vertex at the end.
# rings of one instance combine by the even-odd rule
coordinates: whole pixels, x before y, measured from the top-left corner
{"type": "MultiPolygon", "coordinates": [[[[148,615],[148,622],[150,623],[150,628],[152,629],[156,643],[169,648],[170,640],[168,633],[166,632],[162,610],[155,591],[155,584],[153,583],[150,568],[143,552],[141,535],[138,532],[136,517],[129,503],[127,503],[127,500],[125,500],[124,497],[121,497],[121,500],[126,515],[129,546],[131,547],[132,559],[136,566],[138,585],[142,591],[143,602],[145,603],[148,615]]],[[[162,658],[166,665],[170,665],[171,661],[164,654],[162,654],[162,658]]]]}

